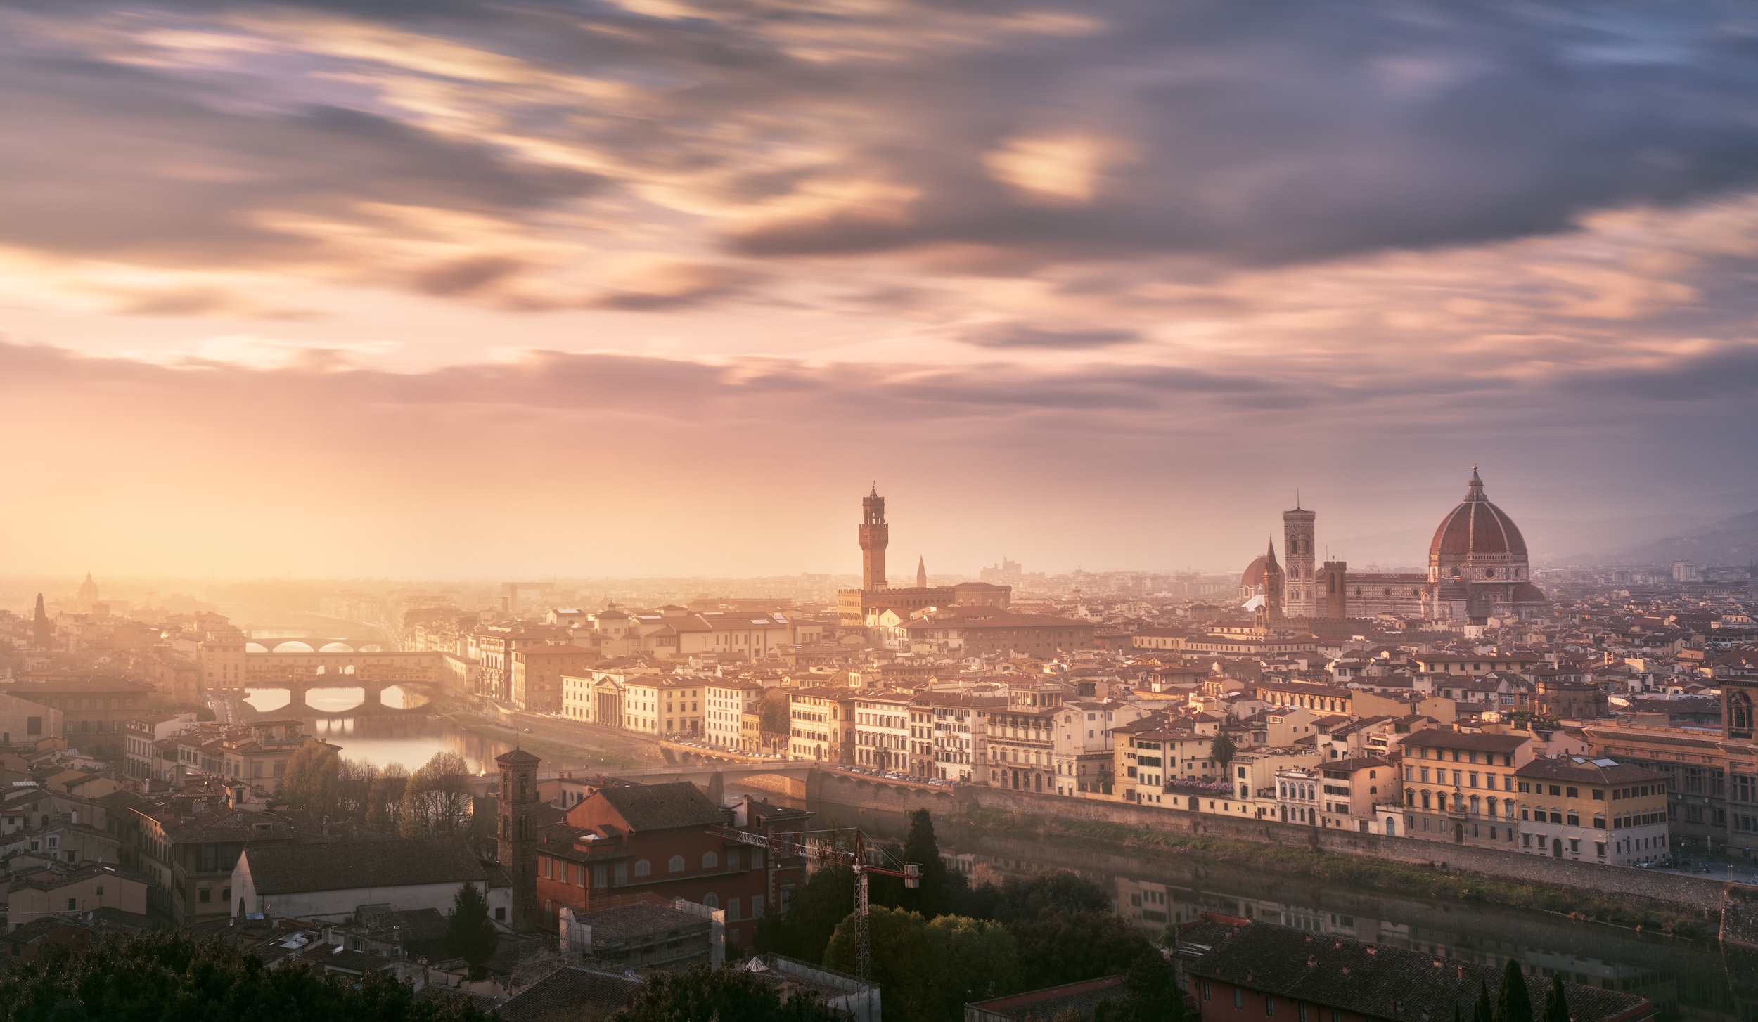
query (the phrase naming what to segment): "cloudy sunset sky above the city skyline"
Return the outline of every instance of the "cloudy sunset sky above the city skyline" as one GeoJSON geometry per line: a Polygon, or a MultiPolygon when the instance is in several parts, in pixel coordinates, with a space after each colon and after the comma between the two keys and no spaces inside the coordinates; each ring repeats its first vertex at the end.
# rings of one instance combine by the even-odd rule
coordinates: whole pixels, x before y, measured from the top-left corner
{"type": "Polygon", "coordinates": [[[0,0],[0,572],[1749,511],[1754,100],[1688,0],[0,0]]]}

